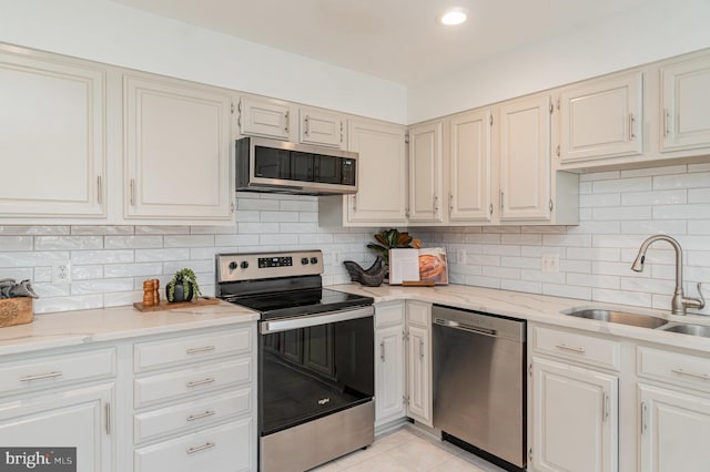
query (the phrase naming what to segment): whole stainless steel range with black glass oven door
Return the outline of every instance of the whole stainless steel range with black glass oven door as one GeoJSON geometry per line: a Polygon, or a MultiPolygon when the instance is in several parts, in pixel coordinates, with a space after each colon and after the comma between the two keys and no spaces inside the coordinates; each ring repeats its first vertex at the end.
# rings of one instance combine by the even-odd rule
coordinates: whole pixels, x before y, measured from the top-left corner
{"type": "Polygon", "coordinates": [[[373,299],[323,288],[320,250],[216,256],[216,296],[261,312],[260,469],[304,471],[374,441],[373,299]]]}

